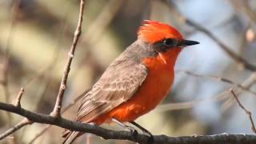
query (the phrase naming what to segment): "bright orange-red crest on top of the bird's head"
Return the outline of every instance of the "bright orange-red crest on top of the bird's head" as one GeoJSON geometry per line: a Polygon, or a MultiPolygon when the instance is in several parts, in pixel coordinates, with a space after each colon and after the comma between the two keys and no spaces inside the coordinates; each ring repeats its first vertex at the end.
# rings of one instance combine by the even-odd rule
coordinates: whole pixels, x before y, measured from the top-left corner
{"type": "Polygon", "coordinates": [[[138,38],[145,42],[154,43],[165,38],[182,39],[182,34],[178,30],[165,23],[150,20],[145,20],[143,23],[143,26],[139,27],[137,34],[138,38]]]}

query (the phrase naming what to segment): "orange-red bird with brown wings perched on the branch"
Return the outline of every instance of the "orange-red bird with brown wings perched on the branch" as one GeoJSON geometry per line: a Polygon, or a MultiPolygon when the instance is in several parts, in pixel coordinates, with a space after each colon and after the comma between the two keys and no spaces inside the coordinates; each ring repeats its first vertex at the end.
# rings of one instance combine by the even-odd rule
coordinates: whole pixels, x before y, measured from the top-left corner
{"type": "MultiPolygon", "coordinates": [[[[170,91],[178,54],[199,42],[186,40],[173,26],[144,20],[138,38],[110,63],[83,96],[77,122],[97,126],[115,120],[130,122],[153,110],[170,91]]],[[[74,142],[82,132],[67,131],[63,143],[74,142]]]]}

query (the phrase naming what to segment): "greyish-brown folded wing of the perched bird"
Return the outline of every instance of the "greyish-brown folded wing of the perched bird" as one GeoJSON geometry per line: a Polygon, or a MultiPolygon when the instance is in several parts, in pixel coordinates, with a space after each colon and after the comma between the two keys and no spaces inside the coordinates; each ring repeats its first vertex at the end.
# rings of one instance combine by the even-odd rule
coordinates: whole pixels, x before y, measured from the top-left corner
{"type": "Polygon", "coordinates": [[[146,79],[146,66],[131,58],[126,50],[106,69],[90,92],[82,99],[78,109],[77,120],[90,122],[100,114],[126,102],[146,79]]]}

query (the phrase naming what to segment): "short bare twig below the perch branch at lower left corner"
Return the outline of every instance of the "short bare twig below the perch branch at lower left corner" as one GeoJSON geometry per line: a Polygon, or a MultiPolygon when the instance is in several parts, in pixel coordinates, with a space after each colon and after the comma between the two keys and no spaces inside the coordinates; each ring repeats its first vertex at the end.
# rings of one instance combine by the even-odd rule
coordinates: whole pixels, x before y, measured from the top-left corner
{"type": "Polygon", "coordinates": [[[3,138],[7,138],[10,134],[13,134],[15,131],[20,130],[23,126],[29,125],[31,123],[32,122],[30,122],[30,120],[28,120],[27,118],[24,118],[21,122],[18,122],[17,125],[10,128],[9,130],[6,130],[6,132],[1,134],[0,135],[0,140],[2,140],[3,138]]]}

